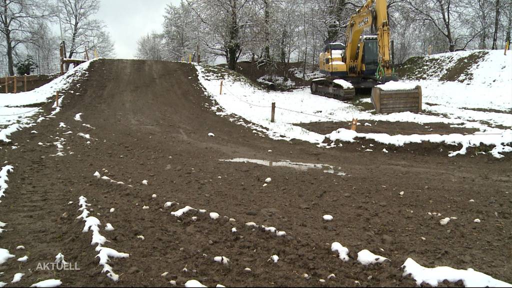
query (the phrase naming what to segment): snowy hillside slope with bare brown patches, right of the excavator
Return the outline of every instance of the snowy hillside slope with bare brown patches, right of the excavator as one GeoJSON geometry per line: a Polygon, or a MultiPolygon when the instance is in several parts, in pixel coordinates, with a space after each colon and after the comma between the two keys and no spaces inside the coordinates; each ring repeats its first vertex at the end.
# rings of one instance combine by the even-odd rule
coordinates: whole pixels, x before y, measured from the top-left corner
{"type": "Polygon", "coordinates": [[[474,50],[412,57],[397,70],[419,82],[424,101],[449,107],[512,110],[512,52],[474,50]]]}

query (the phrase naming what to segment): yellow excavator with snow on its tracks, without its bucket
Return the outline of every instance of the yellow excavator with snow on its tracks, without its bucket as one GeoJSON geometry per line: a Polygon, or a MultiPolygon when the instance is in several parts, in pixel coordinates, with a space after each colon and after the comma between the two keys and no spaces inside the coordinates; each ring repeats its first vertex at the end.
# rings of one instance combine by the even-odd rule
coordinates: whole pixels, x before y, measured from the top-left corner
{"type": "MultiPolygon", "coordinates": [[[[397,80],[390,55],[386,0],[368,0],[359,8],[350,17],[345,37],[344,44],[326,43],[319,58],[320,72],[326,76],[312,80],[312,94],[350,100],[354,87],[371,88],[397,80]],[[364,35],[368,28],[373,35],[364,35]]],[[[394,97],[391,93],[389,98],[394,97]]]]}

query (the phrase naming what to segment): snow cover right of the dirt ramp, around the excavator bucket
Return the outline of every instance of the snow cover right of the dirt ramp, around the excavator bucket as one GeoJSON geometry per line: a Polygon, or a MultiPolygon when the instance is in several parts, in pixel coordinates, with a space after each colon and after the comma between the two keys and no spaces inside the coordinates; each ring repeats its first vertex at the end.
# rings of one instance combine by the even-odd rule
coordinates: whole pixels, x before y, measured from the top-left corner
{"type": "MultiPolygon", "coordinates": [[[[489,53],[489,55],[499,57],[499,55],[495,53],[489,53]]],[[[489,65],[497,65],[497,61],[494,60],[490,60],[490,63],[489,65]]],[[[512,68],[512,65],[507,67],[512,68]]],[[[441,115],[411,112],[375,115],[370,111],[359,111],[357,107],[348,102],[312,95],[309,89],[298,89],[292,92],[267,92],[251,86],[247,81],[240,80],[241,77],[234,76],[232,73],[224,73],[220,72],[218,69],[209,69],[199,65],[197,65],[196,68],[201,85],[214,102],[214,105],[210,107],[212,110],[216,111],[219,115],[227,116],[231,121],[237,124],[252,128],[256,133],[267,134],[273,139],[299,139],[315,143],[319,147],[332,147],[335,145],[334,141],[336,140],[356,141],[356,137],[372,139],[377,142],[396,146],[422,141],[435,143],[444,142],[449,145],[462,146],[462,149],[450,152],[449,156],[465,154],[468,147],[477,147],[481,144],[491,147],[494,146],[492,155],[495,157],[502,157],[500,154],[502,152],[512,151],[512,148],[508,145],[512,143],[512,129],[509,129],[512,128],[512,114],[486,113],[464,109],[467,107],[466,102],[460,101],[460,98],[466,95],[461,95],[459,90],[457,90],[458,87],[451,88],[451,86],[448,85],[439,88],[442,90],[442,93],[447,95],[439,102],[443,102],[444,104],[449,103],[450,105],[424,105],[424,110],[429,111],[430,109],[433,112],[441,113],[441,115]],[[221,80],[223,80],[223,93],[219,94],[221,80]],[[275,122],[270,121],[272,102],[276,104],[275,122]],[[252,122],[252,124],[246,124],[240,118],[244,118],[252,122]],[[352,118],[370,121],[414,122],[418,124],[443,123],[463,128],[475,128],[479,131],[468,135],[413,134],[392,136],[387,133],[356,133],[340,128],[333,133],[322,135],[294,125],[297,123],[316,121],[349,122],[352,118]],[[501,125],[505,126],[506,129],[490,127],[489,125],[501,125]],[[326,138],[330,139],[332,142],[329,144],[324,143],[326,138]]],[[[485,69],[487,73],[490,73],[488,70],[489,69],[485,69]]],[[[495,76],[498,77],[499,75],[495,74],[495,76]]],[[[489,75],[486,75],[484,77],[485,81],[488,81],[489,77],[489,75]]],[[[477,79],[478,76],[475,75],[473,82],[478,83],[477,79]]],[[[484,80],[480,80],[480,82],[482,81],[484,80]]],[[[436,81],[436,83],[438,82],[436,81]]],[[[503,83],[504,85],[506,83],[510,85],[512,79],[509,79],[508,82],[503,80],[503,83]]],[[[411,81],[410,83],[406,82],[403,86],[415,87],[417,84],[418,81],[411,81]]],[[[422,85],[422,83],[419,84],[422,85]]],[[[479,85],[480,84],[475,84],[470,86],[479,85]]],[[[500,88],[500,95],[504,95],[505,93],[509,95],[510,89],[505,91],[505,88],[506,87],[500,88]]],[[[436,90],[429,89],[431,88],[428,85],[422,87],[423,101],[435,102],[430,99],[437,97],[435,95],[436,90]]],[[[473,90],[466,92],[473,93],[473,90]]],[[[498,96],[497,98],[500,97],[502,96],[498,96]]],[[[494,109],[502,108],[499,105],[495,106],[493,104],[493,101],[498,100],[489,100],[488,98],[489,97],[476,97],[475,99],[483,103],[482,107],[491,106],[494,109]]],[[[511,97],[508,98],[510,99],[511,97]]]]}

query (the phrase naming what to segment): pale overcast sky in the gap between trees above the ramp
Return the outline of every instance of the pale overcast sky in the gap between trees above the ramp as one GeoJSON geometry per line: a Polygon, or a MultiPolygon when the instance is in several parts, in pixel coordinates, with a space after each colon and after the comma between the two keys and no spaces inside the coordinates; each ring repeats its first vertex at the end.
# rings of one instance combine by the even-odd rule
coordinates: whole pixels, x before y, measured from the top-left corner
{"type": "Polygon", "coordinates": [[[101,0],[96,18],[103,20],[114,41],[117,58],[134,58],[137,40],[151,31],[162,31],[167,4],[180,0],[101,0]]]}

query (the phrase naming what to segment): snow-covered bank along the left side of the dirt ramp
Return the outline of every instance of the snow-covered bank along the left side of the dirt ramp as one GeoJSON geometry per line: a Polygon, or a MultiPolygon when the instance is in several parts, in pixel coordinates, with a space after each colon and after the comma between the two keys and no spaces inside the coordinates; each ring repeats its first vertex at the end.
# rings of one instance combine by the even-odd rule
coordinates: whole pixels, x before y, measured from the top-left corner
{"type": "MultiPolygon", "coordinates": [[[[54,100],[55,92],[65,90],[74,80],[87,77],[88,73],[86,70],[89,68],[92,61],[93,60],[87,61],[77,66],[75,69],[68,71],[66,74],[52,80],[50,83],[32,91],[3,94],[2,97],[0,97],[0,127],[6,128],[0,130],[0,140],[9,142],[10,140],[7,137],[10,136],[11,133],[34,125],[36,120],[33,119],[33,116],[42,111],[40,107],[51,104],[54,100]],[[36,107],[26,107],[28,105],[35,105],[36,107]]],[[[62,101],[63,97],[65,97],[65,94],[60,94],[59,101],[62,101]]],[[[52,107],[55,109],[49,116],[53,116],[60,110],[60,107],[56,107],[55,103],[53,103],[52,107]]],[[[37,122],[40,122],[46,117],[40,117],[37,119],[37,122]]]]}

